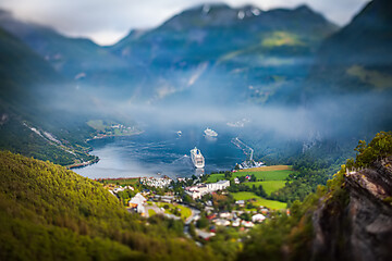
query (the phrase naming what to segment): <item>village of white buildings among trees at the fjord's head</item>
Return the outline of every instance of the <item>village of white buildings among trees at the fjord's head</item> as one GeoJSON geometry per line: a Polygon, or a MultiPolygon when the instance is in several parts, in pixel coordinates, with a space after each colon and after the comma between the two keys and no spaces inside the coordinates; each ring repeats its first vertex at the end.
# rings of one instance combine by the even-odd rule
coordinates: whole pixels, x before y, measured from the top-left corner
{"type": "Polygon", "coordinates": [[[114,184],[107,181],[105,186],[130,212],[144,217],[162,215],[181,220],[184,233],[197,240],[208,240],[224,227],[247,233],[274,211],[254,206],[253,199],[233,198],[230,187],[247,182],[249,175],[217,182],[207,182],[208,178],[209,175],[176,181],[168,176],[140,177],[114,181],[114,184]]]}

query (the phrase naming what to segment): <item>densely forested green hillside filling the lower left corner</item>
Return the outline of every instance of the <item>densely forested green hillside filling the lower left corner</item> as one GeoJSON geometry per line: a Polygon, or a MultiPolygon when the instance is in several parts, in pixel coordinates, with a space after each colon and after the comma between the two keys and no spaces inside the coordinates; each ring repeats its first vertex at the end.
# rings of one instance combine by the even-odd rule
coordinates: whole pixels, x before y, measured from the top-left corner
{"type": "Polygon", "coordinates": [[[96,182],[10,152],[0,161],[1,260],[212,260],[182,222],[147,226],[96,182]]]}

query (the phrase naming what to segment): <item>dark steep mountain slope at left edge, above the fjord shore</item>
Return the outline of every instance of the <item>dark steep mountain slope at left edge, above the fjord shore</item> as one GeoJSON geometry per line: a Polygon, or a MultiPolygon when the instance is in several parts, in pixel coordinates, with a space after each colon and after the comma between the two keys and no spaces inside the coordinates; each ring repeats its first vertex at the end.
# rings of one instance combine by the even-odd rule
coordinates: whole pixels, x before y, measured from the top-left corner
{"type": "Polygon", "coordinates": [[[0,50],[0,148],[61,164],[95,159],[85,120],[59,109],[75,97],[73,85],[1,28],[0,50]]]}

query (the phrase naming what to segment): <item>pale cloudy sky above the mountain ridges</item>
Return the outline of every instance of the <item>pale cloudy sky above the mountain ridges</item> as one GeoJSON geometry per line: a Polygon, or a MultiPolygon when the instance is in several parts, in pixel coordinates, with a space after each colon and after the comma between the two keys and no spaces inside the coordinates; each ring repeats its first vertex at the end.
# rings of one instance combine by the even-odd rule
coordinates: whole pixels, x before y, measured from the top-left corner
{"type": "MultiPolygon", "coordinates": [[[[369,0],[222,0],[231,7],[254,4],[262,10],[306,3],[330,21],[347,24],[369,0]]],[[[0,9],[24,21],[50,25],[73,37],[112,45],[131,29],[160,25],[184,9],[217,0],[0,0],[0,9]]]]}

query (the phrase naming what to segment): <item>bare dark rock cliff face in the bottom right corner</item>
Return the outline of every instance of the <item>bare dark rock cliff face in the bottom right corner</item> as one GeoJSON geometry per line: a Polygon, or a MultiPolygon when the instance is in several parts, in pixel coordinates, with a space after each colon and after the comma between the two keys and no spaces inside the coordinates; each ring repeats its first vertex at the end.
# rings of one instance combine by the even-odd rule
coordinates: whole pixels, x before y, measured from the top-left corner
{"type": "Polygon", "coordinates": [[[329,196],[313,215],[311,260],[392,260],[392,157],[346,171],[329,196]]]}

